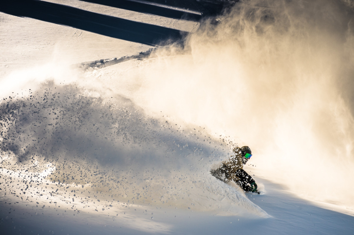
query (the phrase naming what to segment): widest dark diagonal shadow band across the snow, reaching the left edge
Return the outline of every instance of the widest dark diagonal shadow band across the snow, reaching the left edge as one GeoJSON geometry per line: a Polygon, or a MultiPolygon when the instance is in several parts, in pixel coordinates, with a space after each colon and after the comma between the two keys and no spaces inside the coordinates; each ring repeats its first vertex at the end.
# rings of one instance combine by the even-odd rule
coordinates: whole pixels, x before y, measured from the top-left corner
{"type": "Polygon", "coordinates": [[[187,32],[157,25],[107,16],[78,8],[39,0],[11,0],[0,5],[0,12],[90,31],[117,39],[151,46],[182,40],[187,32]]]}

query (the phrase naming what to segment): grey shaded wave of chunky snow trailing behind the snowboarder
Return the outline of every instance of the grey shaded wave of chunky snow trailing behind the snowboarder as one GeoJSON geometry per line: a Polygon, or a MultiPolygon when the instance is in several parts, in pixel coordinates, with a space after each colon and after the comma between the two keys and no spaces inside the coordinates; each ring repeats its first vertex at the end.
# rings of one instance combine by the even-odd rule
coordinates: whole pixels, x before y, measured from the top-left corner
{"type": "MultiPolygon", "coordinates": [[[[101,200],[266,215],[243,192],[209,174],[211,163],[224,157],[232,142],[215,139],[202,128],[149,117],[121,95],[98,94],[47,80],[38,89],[4,98],[4,168],[21,177],[26,170],[39,176],[47,172],[41,177],[47,184],[76,185],[81,194],[101,200]]],[[[30,187],[43,188],[41,184],[30,187]]]]}

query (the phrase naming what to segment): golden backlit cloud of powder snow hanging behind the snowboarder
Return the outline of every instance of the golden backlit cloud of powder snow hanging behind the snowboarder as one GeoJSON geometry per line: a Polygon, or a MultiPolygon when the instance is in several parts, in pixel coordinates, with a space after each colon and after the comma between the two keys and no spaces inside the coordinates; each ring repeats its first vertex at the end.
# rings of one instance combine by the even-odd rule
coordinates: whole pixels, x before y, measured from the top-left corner
{"type": "Polygon", "coordinates": [[[140,65],[135,100],[250,146],[259,177],[353,208],[353,16],[352,1],[243,1],[185,54],[140,65]]]}

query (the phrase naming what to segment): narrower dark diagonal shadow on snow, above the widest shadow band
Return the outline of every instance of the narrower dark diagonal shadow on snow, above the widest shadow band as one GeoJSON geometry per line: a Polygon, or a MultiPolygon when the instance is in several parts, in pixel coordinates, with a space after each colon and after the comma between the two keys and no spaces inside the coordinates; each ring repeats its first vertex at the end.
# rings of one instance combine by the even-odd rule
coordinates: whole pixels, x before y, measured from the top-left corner
{"type": "MultiPolygon", "coordinates": [[[[121,8],[130,11],[136,11],[141,13],[154,14],[156,16],[164,16],[174,19],[188,19],[193,21],[199,21],[201,14],[186,12],[178,9],[172,9],[163,7],[161,5],[148,4],[149,1],[137,2],[132,0],[81,0],[85,2],[91,2],[116,8],[121,8]]],[[[190,4],[189,4],[190,5],[190,4]]],[[[198,11],[198,9],[196,9],[198,11]]]]}

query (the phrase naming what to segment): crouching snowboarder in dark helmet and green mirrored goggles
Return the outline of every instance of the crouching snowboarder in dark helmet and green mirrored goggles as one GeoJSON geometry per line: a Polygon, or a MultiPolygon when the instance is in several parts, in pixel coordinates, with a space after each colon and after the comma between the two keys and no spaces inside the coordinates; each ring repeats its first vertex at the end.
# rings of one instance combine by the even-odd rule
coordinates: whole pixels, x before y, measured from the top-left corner
{"type": "Polygon", "coordinates": [[[233,149],[235,155],[231,156],[228,161],[223,161],[222,166],[210,173],[217,179],[228,183],[234,181],[246,192],[258,193],[257,184],[252,177],[243,169],[243,165],[251,158],[252,152],[248,146],[233,149]]]}

